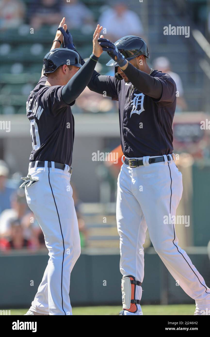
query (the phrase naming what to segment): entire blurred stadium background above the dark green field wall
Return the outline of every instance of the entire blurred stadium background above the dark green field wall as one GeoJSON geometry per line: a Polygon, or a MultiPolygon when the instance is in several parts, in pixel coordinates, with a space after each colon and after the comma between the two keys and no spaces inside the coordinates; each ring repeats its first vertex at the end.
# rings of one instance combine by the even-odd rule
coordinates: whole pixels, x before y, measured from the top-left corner
{"type": "MultiPolygon", "coordinates": [[[[138,35],[148,43],[149,65],[169,73],[179,96],[174,153],[183,174],[178,213],[190,226],[177,227],[180,245],[207,246],[210,239],[210,4],[206,0],[0,0],[0,250],[45,249],[43,234],[19,189],[31,152],[25,103],[38,82],[42,60],[65,16],[76,48],[88,58],[96,24],[113,42],[138,35]],[[190,36],[163,34],[163,27],[189,26],[190,36]],[[205,45],[205,48],[202,47],[205,45]],[[201,122],[205,128],[201,128],[201,122]],[[6,125],[10,126],[6,130],[6,125]]],[[[114,75],[102,54],[96,70],[114,75]]],[[[82,247],[116,248],[116,180],[121,166],[118,103],[86,88],[72,108],[75,117],[72,185],[82,247]],[[97,151],[118,162],[93,161],[97,151]],[[83,159],[83,160],[81,160],[83,159]],[[83,164],[81,164],[81,162],[83,164]],[[84,165],[85,162],[85,165],[84,165]]],[[[44,207],[44,205],[43,205],[44,207]]],[[[145,247],[151,246],[147,236],[145,247]]]]}

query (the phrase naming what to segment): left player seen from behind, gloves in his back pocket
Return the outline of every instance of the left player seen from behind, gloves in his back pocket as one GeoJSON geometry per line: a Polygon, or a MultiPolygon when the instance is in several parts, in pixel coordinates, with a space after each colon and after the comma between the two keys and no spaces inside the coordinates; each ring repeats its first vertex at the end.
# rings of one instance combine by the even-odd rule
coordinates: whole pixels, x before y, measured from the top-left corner
{"type": "MultiPolygon", "coordinates": [[[[65,18],[60,26],[65,30],[65,18]]],[[[82,66],[74,45],[60,46],[58,30],[44,57],[42,76],[28,97],[32,152],[24,177],[29,208],[44,234],[49,261],[26,315],[71,315],[70,273],[80,255],[78,221],[70,186],[74,119],[71,106],[90,82],[102,51],[93,36],[93,53],[82,66]]]]}

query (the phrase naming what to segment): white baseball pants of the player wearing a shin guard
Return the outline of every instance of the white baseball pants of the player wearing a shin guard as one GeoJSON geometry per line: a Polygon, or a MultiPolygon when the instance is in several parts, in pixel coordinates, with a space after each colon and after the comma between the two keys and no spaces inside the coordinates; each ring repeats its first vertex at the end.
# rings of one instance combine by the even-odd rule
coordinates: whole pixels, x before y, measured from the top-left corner
{"type": "MultiPolygon", "coordinates": [[[[142,166],[130,168],[123,162],[121,167],[116,209],[120,272],[143,282],[143,244],[148,227],[151,242],[164,265],[185,293],[196,300],[196,306],[205,310],[210,308],[210,288],[186,252],[178,246],[173,221],[164,223],[166,216],[176,215],[183,190],[181,172],[173,160],[164,157],[165,162],[149,164],[149,157],[144,157],[142,166]]],[[[141,297],[142,287],[136,286],[136,299],[141,300],[141,297]]],[[[124,310],[124,314],[140,315],[141,306],[138,304],[136,313],[124,310]]]]}

